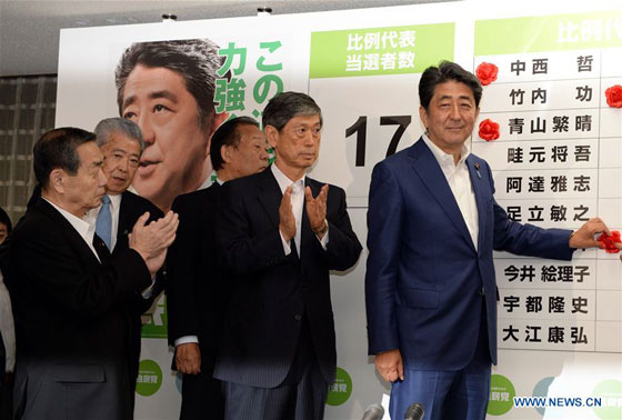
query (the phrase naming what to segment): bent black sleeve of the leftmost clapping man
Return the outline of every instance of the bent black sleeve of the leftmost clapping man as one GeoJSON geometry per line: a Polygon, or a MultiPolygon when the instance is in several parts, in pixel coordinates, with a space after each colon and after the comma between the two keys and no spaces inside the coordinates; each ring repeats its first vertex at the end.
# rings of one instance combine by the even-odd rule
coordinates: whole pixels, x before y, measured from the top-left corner
{"type": "Polygon", "coordinates": [[[68,311],[98,317],[151,283],[142,257],[132,249],[92,270],[77,261],[72,247],[78,244],[62,233],[40,224],[30,230],[11,247],[18,272],[68,311]]]}

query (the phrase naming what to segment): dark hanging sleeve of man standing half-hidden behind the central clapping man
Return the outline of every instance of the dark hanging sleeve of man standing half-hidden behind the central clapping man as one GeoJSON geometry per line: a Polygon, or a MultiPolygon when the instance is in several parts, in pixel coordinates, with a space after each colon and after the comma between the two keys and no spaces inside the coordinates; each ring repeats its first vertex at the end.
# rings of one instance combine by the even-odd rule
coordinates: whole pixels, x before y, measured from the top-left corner
{"type": "MultiPolygon", "coordinates": [[[[179,214],[177,237],[169,248],[167,271],[167,308],[169,314],[169,344],[180,337],[198,336],[197,264],[200,256],[201,226],[197,206],[175,199],[172,210],[179,214]]],[[[207,240],[203,238],[203,240],[207,240]]]]}

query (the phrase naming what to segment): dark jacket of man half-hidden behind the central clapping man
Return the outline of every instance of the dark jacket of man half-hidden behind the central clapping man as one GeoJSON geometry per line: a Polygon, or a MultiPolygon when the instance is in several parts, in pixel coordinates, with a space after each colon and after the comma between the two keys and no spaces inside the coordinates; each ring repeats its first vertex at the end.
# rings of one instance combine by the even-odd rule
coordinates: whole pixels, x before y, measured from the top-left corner
{"type": "Polygon", "coordinates": [[[214,239],[221,190],[213,183],[175,198],[172,210],[179,214],[179,228],[167,256],[171,279],[167,286],[169,343],[197,336],[203,372],[213,370],[229,296],[229,280],[217,261],[214,239]]]}

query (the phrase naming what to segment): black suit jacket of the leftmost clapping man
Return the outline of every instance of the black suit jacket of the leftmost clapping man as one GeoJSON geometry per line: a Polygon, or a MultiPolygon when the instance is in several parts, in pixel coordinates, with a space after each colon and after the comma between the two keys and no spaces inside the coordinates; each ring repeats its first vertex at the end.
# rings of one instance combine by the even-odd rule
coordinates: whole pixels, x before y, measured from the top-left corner
{"type": "Polygon", "coordinates": [[[100,263],[39,199],[0,247],[16,321],[18,419],[131,419],[124,302],[150,284],[133,250],[100,263]]]}

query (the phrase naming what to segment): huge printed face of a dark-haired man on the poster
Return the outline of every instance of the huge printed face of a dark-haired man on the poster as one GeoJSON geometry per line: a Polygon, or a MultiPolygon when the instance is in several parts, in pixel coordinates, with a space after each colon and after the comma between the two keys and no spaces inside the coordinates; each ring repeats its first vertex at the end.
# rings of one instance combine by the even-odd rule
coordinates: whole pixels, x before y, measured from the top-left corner
{"type": "Polygon", "coordinates": [[[214,109],[223,61],[208,39],[133,43],[119,60],[119,113],[140,127],[146,143],[133,187],[162,209],[211,173],[209,140],[228,116],[214,109]]]}

